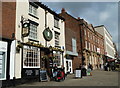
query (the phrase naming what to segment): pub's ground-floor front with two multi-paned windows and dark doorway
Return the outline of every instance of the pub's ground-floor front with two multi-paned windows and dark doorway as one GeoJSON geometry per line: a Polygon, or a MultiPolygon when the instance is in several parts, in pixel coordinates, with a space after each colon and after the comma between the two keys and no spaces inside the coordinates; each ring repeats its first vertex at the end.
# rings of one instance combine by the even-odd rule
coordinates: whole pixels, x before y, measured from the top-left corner
{"type": "Polygon", "coordinates": [[[47,79],[52,76],[55,64],[64,66],[63,51],[55,47],[44,47],[40,44],[23,43],[22,48],[22,79],[41,81],[42,72],[47,79]],[[40,78],[41,77],[41,78],[40,78]]]}

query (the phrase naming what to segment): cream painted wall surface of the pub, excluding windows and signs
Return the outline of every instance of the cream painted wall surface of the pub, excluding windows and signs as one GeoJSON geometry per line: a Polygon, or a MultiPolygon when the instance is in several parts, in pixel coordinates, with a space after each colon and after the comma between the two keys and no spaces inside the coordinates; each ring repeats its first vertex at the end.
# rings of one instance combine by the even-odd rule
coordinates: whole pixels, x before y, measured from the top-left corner
{"type": "MultiPolygon", "coordinates": [[[[16,36],[15,37],[16,37],[17,41],[26,43],[26,42],[28,42],[29,37],[25,37],[24,41],[22,41],[22,39],[21,39],[21,30],[22,30],[21,16],[39,24],[37,27],[37,41],[39,41],[39,44],[41,43],[42,45],[45,46],[45,39],[43,37],[43,31],[45,29],[45,9],[38,6],[37,16],[36,16],[38,19],[36,19],[29,15],[28,0],[24,0],[24,2],[18,2],[18,1],[16,2],[16,30],[15,30],[16,36]]],[[[47,42],[47,46],[55,47],[55,33],[54,32],[56,31],[56,32],[60,33],[59,46],[64,47],[64,50],[65,50],[64,21],[59,19],[59,29],[57,29],[54,27],[54,15],[51,14],[50,12],[47,12],[46,18],[47,18],[47,27],[50,28],[50,30],[52,31],[52,34],[53,34],[53,38],[51,41],[47,42]]],[[[16,46],[18,44],[17,41],[16,41],[16,46]]],[[[64,57],[64,55],[65,55],[65,52],[63,53],[63,57],[64,57]]],[[[16,53],[16,58],[15,58],[15,77],[16,78],[21,78],[21,60],[22,60],[21,56],[22,56],[22,53],[21,53],[21,49],[20,49],[20,52],[16,53]]],[[[64,66],[66,67],[65,62],[66,62],[66,60],[64,58],[64,66]]],[[[61,62],[61,64],[62,64],[62,62],[61,62]]]]}

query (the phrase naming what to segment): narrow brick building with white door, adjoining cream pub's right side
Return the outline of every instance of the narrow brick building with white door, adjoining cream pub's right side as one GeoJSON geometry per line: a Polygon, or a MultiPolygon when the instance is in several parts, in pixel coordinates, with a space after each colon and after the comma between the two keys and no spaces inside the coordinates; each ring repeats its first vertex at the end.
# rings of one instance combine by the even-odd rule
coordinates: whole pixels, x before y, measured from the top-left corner
{"type": "Polygon", "coordinates": [[[65,18],[65,45],[67,71],[72,73],[82,65],[81,38],[78,19],[63,8],[60,15],[65,18]]]}

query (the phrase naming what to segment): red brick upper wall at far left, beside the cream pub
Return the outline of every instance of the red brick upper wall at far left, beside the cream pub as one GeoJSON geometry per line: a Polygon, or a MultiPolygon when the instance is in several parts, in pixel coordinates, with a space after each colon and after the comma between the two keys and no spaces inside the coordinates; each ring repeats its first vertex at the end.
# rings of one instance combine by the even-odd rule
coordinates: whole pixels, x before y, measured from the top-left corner
{"type": "Polygon", "coordinates": [[[2,34],[3,38],[14,39],[15,19],[16,19],[16,2],[2,2],[2,34]]]}

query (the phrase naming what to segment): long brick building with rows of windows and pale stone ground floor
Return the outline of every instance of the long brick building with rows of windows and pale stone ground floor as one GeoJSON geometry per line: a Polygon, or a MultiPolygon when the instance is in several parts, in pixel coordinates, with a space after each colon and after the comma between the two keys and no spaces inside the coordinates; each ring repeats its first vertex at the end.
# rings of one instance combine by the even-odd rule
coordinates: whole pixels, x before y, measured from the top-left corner
{"type": "Polygon", "coordinates": [[[88,24],[84,19],[80,19],[80,24],[82,30],[83,56],[85,57],[86,68],[89,63],[93,66],[93,69],[103,68],[103,36],[96,32],[92,24],[88,24]]]}

